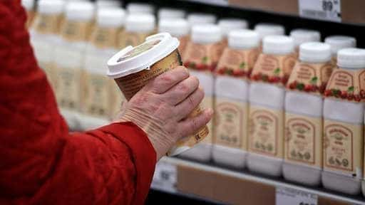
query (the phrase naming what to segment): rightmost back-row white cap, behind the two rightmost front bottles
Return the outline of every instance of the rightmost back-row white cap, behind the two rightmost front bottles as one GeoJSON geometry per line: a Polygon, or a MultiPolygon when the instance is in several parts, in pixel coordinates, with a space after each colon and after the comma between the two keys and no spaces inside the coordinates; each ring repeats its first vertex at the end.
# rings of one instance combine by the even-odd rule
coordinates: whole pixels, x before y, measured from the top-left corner
{"type": "Polygon", "coordinates": [[[324,38],[324,43],[331,45],[332,56],[336,56],[342,48],[355,48],[356,38],[351,36],[328,36],[324,38]]]}

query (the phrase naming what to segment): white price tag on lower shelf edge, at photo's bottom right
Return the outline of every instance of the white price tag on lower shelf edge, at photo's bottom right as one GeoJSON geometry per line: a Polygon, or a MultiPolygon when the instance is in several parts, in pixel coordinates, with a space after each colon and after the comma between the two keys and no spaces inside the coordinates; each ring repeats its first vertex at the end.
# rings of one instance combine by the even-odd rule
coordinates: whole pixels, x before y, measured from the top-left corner
{"type": "Polygon", "coordinates": [[[317,205],[318,196],[306,191],[277,186],[275,204],[317,205]]]}

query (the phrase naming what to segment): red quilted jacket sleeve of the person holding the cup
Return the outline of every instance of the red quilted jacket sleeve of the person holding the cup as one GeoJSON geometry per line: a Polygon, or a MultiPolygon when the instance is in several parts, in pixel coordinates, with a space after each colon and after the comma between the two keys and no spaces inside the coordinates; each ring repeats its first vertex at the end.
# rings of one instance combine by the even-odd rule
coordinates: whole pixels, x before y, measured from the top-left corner
{"type": "Polygon", "coordinates": [[[143,204],[155,169],[130,122],[69,133],[20,0],[0,1],[0,204],[143,204]]]}

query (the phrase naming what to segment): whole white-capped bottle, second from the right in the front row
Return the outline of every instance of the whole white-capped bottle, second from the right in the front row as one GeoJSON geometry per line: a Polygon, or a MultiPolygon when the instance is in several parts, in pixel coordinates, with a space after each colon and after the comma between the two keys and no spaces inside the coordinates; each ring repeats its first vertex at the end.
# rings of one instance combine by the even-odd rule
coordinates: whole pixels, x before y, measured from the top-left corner
{"type": "Polygon", "coordinates": [[[309,186],[321,184],[322,94],[331,75],[331,46],[302,43],[285,95],[284,178],[309,186]]]}

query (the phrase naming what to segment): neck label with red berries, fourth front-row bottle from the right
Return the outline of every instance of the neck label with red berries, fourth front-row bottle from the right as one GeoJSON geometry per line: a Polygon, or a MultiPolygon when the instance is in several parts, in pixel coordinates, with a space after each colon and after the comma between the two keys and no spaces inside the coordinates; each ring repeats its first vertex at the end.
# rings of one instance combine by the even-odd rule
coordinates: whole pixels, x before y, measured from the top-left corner
{"type": "Polygon", "coordinates": [[[258,48],[247,50],[225,48],[217,65],[217,73],[220,75],[250,78],[258,56],[258,48]]]}

